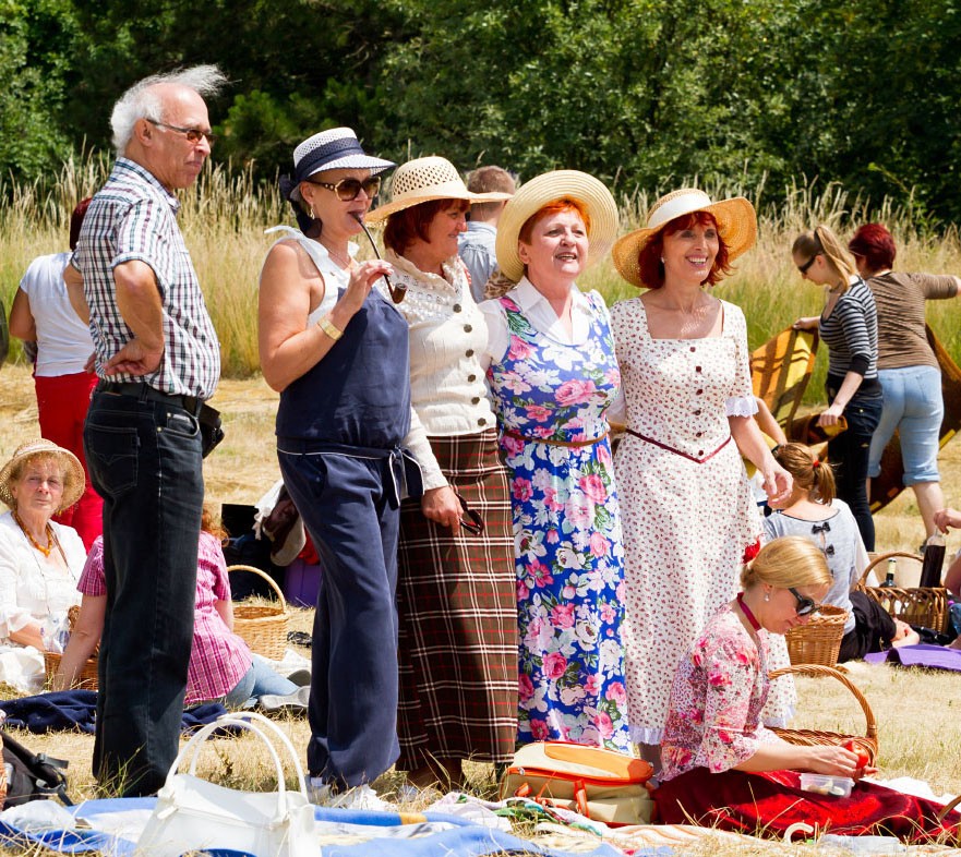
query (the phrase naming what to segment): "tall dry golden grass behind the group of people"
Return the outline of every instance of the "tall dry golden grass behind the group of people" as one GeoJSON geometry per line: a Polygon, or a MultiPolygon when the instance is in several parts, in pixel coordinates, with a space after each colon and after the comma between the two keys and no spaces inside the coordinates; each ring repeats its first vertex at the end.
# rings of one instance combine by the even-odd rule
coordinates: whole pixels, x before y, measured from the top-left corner
{"type": "MultiPolygon", "coordinates": [[[[70,212],[93,193],[109,172],[109,160],[88,156],[63,165],[53,181],[33,184],[0,182],[0,299],[10,301],[29,261],[65,248],[70,212]]],[[[697,179],[682,182],[697,185],[697,179]]],[[[622,232],[642,224],[653,201],[669,188],[622,194],[622,232]]],[[[961,273],[961,240],[953,226],[935,233],[912,219],[912,207],[878,204],[838,184],[797,182],[779,205],[766,202],[766,189],[731,183],[706,188],[714,198],[747,196],[759,213],[757,246],[735,263],[735,273],[716,293],[738,304],[747,317],[752,348],[789,326],[801,315],[819,312],[819,288],[801,280],[790,255],[795,236],[815,224],[827,224],[844,236],[853,225],[876,219],[893,232],[899,248],[897,267],[934,274],[961,273]]],[[[257,183],[249,170],[208,168],[196,188],[181,194],[180,222],[220,337],[224,374],[248,377],[259,370],[256,352],[256,289],[261,264],[272,238],[264,230],[291,222],[291,213],[275,185],[257,183]]],[[[365,249],[362,252],[367,252],[365,249]]],[[[610,259],[588,273],[582,283],[599,289],[609,303],[637,290],[617,277],[610,259]]],[[[928,318],[956,360],[961,360],[961,306],[934,302],[928,318]]],[[[14,349],[14,357],[19,353],[14,349]]],[[[826,360],[819,359],[808,398],[820,398],[826,360]]]]}

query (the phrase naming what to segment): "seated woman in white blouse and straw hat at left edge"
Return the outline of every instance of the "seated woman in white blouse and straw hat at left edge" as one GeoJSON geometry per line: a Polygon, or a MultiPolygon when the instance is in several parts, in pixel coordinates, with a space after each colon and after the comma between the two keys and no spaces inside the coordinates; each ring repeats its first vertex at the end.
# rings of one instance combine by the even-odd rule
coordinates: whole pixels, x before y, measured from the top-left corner
{"type": "Polygon", "coordinates": [[[80,601],[86,551],[75,530],[51,518],[83,490],[76,456],[50,440],[23,444],[0,470],[0,499],[10,507],[0,516],[0,681],[19,690],[40,689],[43,651],[80,601]]]}

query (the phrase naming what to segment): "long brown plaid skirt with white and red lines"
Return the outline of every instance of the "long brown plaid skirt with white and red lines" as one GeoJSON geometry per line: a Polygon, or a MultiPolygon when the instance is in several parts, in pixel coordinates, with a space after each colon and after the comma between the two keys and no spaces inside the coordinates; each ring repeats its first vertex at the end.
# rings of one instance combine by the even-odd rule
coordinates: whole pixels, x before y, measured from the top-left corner
{"type": "Polygon", "coordinates": [[[397,767],[431,758],[506,762],[517,737],[517,600],[507,473],[494,430],[431,437],[447,481],[484,532],[400,512],[397,767]]]}

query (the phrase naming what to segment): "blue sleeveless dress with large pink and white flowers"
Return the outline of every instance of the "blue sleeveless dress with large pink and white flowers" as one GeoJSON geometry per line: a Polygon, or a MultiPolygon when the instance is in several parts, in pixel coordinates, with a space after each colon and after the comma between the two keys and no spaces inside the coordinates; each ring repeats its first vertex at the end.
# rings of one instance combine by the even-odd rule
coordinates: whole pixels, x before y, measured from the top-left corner
{"type": "Polygon", "coordinates": [[[620,387],[608,311],[590,336],[541,333],[509,294],[488,382],[510,474],[520,632],[518,740],[628,746],[623,551],[605,411],[620,387]]]}

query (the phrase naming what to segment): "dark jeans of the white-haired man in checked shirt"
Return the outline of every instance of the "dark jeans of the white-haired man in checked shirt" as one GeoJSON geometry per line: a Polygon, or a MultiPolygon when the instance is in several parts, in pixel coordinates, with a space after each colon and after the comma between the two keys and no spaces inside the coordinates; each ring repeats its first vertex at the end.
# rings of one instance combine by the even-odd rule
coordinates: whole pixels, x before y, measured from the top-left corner
{"type": "Polygon", "coordinates": [[[204,499],[200,426],[172,399],[97,391],[84,449],[104,497],[107,582],[94,774],[124,797],[148,795],[180,738],[204,499]]]}

